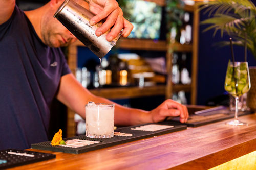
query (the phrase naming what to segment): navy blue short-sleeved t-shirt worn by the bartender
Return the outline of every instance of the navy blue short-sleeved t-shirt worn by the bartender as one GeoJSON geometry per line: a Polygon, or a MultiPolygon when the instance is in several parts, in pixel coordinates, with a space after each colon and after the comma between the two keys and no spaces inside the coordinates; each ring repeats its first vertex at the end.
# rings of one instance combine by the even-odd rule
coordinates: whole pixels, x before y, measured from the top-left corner
{"type": "Polygon", "coordinates": [[[0,150],[48,140],[49,107],[70,72],[61,50],[42,43],[15,6],[0,25],[0,150]]]}

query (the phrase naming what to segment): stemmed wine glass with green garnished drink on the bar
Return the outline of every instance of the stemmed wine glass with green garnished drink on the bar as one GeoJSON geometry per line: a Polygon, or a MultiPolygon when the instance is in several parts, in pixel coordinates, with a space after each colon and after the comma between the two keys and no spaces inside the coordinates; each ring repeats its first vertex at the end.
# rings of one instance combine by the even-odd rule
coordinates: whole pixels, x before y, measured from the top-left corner
{"type": "Polygon", "coordinates": [[[247,125],[247,123],[238,120],[238,99],[247,93],[251,88],[250,75],[247,62],[228,62],[227,73],[225,79],[225,90],[234,96],[236,100],[236,110],[234,111],[234,119],[227,122],[228,125],[238,126],[247,125]]]}

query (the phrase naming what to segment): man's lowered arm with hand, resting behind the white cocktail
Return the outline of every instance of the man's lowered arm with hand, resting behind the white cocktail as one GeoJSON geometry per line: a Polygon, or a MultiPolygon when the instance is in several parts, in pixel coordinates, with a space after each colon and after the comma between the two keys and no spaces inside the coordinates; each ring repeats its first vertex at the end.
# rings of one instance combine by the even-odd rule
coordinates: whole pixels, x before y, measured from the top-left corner
{"type": "MultiPolygon", "coordinates": [[[[89,90],[82,87],[73,74],[62,76],[57,99],[83,118],[85,118],[85,105],[89,101],[95,103],[114,103],[108,99],[93,95],[89,90]]],[[[173,100],[166,100],[152,111],[127,108],[115,103],[116,125],[160,122],[168,116],[180,116],[181,122],[185,122],[188,118],[188,112],[184,105],[173,100]]]]}

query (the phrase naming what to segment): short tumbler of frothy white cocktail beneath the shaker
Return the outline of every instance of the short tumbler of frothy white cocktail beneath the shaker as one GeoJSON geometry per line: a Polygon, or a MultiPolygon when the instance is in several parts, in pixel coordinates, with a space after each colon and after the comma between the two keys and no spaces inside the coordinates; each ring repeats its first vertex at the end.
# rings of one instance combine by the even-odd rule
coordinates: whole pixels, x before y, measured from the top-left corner
{"type": "Polygon", "coordinates": [[[114,104],[89,102],[86,105],[86,136],[110,138],[114,136],[114,104]]]}

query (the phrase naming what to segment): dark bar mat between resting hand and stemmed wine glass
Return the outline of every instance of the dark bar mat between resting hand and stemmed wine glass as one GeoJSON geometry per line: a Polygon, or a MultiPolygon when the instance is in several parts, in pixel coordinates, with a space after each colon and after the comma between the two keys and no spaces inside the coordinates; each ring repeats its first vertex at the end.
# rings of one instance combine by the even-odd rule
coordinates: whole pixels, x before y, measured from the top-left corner
{"type": "MultiPolygon", "coordinates": [[[[250,111],[239,112],[238,116],[250,114],[250,111]]],[[[229,118],[234,118],[234,111],[230,111],[227,107],[220,107],[220,109],[208,111],[200,111],[198,114],[191,114],[187,120],[187,123],[180,123],[180,118],[175,117],[172,121],[180,123],[181,125],[187,125],[188,127],[199,127],[202,125],[219,122],[221,120],[226,120],[229,118]]]]}

